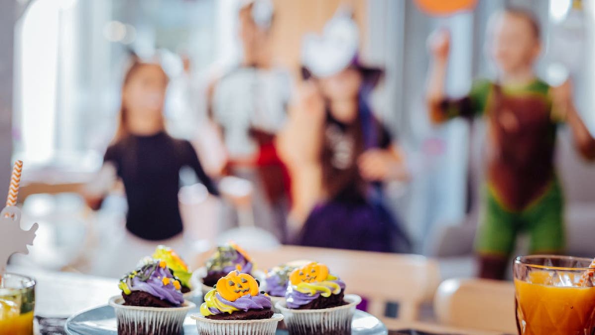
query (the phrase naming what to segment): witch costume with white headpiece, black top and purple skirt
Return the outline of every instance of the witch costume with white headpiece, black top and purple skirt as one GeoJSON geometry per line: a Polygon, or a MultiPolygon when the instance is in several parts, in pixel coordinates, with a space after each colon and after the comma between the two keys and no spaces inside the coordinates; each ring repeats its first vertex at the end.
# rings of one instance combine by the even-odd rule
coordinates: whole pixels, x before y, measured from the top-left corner
{"type": "Polygon", "coordinates": [[[362,66],[357,59],[358,29],[350,13],[339,11],[322,36],[306,36],[303,76],[331,76],[347,67],[362,73],[358,116],[351,123],[326,112],[320,163],[322,187],[327,195],[306,219],[297,244],[380,252],[408,252],[408,238],[383,204],[381,182],[368,182],[357,160],[372,148],[388,149],[392,137],[374,117],[368,97],[381,70],[362,66]]]}

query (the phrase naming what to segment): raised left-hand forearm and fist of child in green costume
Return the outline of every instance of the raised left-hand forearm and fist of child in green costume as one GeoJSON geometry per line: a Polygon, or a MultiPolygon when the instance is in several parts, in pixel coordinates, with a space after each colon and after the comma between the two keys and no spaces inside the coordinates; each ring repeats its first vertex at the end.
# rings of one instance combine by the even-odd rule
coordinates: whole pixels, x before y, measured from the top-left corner
{"type": "Polygon", "coordinates": [[[446,121],[446,113],[442,103],[444,95],[444,82],[450,51],[450,35],[446,30],[434,32],[428,39],[431,52],[430,72],[428,72],[425,100],[433,123],[446,121]]]}

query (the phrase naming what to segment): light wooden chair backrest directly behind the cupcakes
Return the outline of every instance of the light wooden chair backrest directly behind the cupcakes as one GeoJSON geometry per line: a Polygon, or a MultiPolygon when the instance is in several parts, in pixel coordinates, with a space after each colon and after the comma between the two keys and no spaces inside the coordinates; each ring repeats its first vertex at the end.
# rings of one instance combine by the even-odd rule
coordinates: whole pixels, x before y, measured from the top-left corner
{"type": "Polygon", "coordinates": [[[249,253],[263,270],[296,259],[325,263],[347,283],[348,291],[368,299],[368,311],[377,317],[383,317],[387,302],[398,302],[397,317],[415,320],[419,305],[431,300],[440,284],[437,262],[419,255],[298,246],[249,253]]]}

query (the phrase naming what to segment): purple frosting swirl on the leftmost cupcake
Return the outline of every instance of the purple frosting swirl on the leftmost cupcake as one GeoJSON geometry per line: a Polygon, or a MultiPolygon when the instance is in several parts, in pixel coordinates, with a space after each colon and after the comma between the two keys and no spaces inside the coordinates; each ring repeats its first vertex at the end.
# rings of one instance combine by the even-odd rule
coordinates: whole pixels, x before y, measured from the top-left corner
{"type": "MultiPolygon", "coordinates": [[[[145,269],[145,275],[149,275],[148,271],[151,271],[151,267],[143,267],[145,269]]],[[[158,297],[162,300],[167,300],[174,305],[181,305],[184,302],[184,296],[180,290],[176,290],[172,281],[174,276],[170,270],[156,266],[155,271],[149,275],[149,278],[145,281],[141,280],[138,276],[134,276],[131,280],[130,290],[132,291],[145,291],[152,296],[158,297]],[[171,278],[169,284],[163,284],[163,278],[171,278]]]]}

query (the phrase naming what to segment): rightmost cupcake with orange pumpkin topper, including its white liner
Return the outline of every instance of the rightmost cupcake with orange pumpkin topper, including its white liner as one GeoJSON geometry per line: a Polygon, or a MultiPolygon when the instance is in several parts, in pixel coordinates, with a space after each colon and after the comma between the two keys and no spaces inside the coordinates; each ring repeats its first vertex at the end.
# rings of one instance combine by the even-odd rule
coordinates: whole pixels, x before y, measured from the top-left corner
{"type": "Polygon", "coordinates": [[[361,297],[345,295],[345,283],[324,264],[312,262],[293,270],[285,301],[275,307],[290,334],[350,334],[355,306],[361,297]]]}

